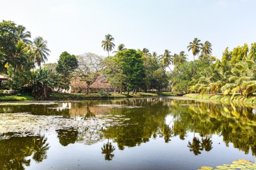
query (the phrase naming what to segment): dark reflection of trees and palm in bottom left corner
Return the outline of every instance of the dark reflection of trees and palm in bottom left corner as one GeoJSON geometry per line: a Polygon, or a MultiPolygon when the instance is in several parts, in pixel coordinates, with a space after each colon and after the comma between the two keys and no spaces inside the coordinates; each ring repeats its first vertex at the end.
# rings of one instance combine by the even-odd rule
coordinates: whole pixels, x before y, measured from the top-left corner
{"type": "Polygon", "coordinates": [[[49,144],[44,137],[13,137],[0,140],[0,169],[25,169],[29,166],[32,156],[35,162],[42,162],[47,158],[49,144]]]}

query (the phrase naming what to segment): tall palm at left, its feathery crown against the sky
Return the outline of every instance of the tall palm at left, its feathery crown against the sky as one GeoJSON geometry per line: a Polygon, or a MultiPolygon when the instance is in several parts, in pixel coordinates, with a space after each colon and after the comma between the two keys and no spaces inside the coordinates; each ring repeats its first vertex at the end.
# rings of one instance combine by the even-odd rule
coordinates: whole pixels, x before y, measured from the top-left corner
{"type": "Polygon", "coordinates": [[[47,48],[47,41],[40,36],[34,39],[33,45],[35,62],[38,66],[41,66],[41,63],[45,63],[47,61],[47,56],[49,56],[51,50],[47,48]]]}

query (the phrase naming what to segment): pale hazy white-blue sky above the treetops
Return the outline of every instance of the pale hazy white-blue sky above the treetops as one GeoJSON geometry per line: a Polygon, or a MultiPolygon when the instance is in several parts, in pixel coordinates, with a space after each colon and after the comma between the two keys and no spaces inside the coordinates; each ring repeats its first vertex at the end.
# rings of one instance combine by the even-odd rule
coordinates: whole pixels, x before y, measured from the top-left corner
{"type": "Polygon", "coordinates": [[[107,33],[115,45],[148,48],[162,54],[184,50],[195,37],[213,44],[221,58],[226,46],[256,41],[254,0],[0,0],[0,19],[13,20],[42,36],[56,62],[63,51],[106,56],[101,41],[107,33]]]}

